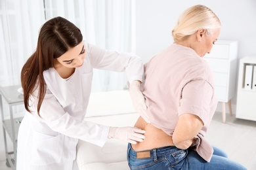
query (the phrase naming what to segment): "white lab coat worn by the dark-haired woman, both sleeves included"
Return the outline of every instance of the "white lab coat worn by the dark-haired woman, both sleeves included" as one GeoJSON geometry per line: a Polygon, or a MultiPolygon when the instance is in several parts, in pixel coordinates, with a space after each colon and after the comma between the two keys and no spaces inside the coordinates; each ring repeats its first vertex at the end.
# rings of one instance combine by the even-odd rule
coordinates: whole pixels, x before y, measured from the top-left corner
{"type": "Polygon", "coordinates": [[[82,67],[68,79],[54,68],[44,71],[47,92],[37,115],[37,90],[18,131],[17,170],[75,169],[78,139],[103,146],[108,126],[83,121],[91,93],[93,68],[125,71],[129,82],[141,80],[142,60],[135,54],[109,52],[85,43],[82,67]]]}

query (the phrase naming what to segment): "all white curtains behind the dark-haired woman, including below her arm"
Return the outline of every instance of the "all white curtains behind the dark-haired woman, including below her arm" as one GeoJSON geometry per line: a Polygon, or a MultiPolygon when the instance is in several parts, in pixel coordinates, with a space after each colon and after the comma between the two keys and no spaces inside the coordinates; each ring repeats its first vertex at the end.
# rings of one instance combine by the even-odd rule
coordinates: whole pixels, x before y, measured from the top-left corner
{"type": "MultiPolygon", "coordinates": [[[[0,86],[20,84],[20,71],[35,50],[41,25],[62,16],[73,22],[85,41],[108,50],[131,52],[132,1],[1,0],[0,86]]],[[[93,91],[125,88],[125,73],[94,71],[93,91]]]]}

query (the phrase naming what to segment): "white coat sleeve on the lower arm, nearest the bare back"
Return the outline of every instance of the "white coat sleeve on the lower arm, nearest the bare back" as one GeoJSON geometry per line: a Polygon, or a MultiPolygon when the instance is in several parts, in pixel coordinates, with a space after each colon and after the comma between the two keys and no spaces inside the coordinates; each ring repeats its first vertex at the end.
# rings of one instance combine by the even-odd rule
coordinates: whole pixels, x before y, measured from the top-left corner
{"type": "MultiPolygon", "coordinates": [[[[37,116],[37,95],[34,95],[37,93],[38,91],[35,91],[30,98],[34,116],[37,116]]],[[[74,116],[64,111],[49,89],[47,89],[39,114],[40,119],[53,131],[68,137],[81,139],[98,146],[103,146],[108,138],[108,126],[75,119],[74,116]]]]}

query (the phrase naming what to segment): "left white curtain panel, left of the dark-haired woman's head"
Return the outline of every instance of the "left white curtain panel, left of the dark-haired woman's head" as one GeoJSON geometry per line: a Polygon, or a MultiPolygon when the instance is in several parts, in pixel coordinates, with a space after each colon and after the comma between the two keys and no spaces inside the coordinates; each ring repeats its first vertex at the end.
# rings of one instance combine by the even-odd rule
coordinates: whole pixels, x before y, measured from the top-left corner
{"type": "Polygon", "coordinates": [[[20,84],[20,71],[35,50],[44,20],[43,1],[0,1],[0,85],[20,84]]]}

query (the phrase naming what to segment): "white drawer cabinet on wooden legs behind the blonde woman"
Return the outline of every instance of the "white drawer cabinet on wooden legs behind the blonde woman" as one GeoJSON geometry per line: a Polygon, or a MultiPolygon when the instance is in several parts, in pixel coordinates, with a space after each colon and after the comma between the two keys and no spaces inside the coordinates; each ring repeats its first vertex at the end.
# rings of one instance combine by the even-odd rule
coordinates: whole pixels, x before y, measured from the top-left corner
{"type": "Polygon", "coordinates": [[[204,56],[213,71],[215,94],[217,99],[222,102],[223,122],[226,122],[226,103],[228,103],[229,112],[232,115],[231,99],[236,92],[237,57],[238,41],[221,40],[215,42],[211,53],[204,56]]]}

